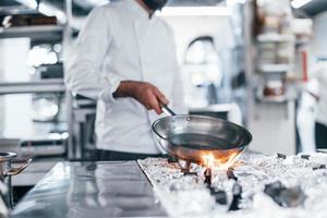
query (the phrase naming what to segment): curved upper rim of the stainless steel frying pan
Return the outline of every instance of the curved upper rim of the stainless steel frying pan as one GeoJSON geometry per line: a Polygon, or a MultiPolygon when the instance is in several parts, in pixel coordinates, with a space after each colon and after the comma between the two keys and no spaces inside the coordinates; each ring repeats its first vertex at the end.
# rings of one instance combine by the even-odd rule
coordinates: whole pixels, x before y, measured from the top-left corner
{"type": "Polygon", "coordinates": [[[153,122],[153,124],[152,124],[152,129],[153,129],[153,131],[155,132],[155,134],[156,134],[157,136],[159,136],[160,138],[167,141],[166,137],[164,137],[161,134],[159,134],[159,133],[157,132],[157,130],[156,130],[155,126],[156,126],[157,123],[159,123],[161,120],[169,119],[169,118],[175,118],[175,117],[204,118],[204,119],[214,120],[214,121],[218,121],[218,122],[226,122],[226,123],[229,123],[229,124],[231,124],[231,125],[233,125],[233,126],[235,126],[235,128],[238,128],[238,129],[241,129],[241,130],[244,131],[244,133],[247,135],[249,142],[246,142],[245,144],[243,144],[243,146],[247,146],[247,145],[252,142],[252,140],[253,140],[253,136],[252,136],[251,132],[250,132],[249,130],[246,130],[245,128],[243,128],[242,125],[239,125],[239,124],[237,124],[237,123],[234,123],[234,122],[231,122],[231,121],[228,121],[228,120],[223,120],[223,119],[220,119],[220,118],[213,118],[213,117],[208,117],[208,116],[198,116],[198,114],[175,114],[175,116],[166,116],[166,117],[164,117],[164,118],[159,118],[159,119],[155,120],[155,121],[153,122]]]}

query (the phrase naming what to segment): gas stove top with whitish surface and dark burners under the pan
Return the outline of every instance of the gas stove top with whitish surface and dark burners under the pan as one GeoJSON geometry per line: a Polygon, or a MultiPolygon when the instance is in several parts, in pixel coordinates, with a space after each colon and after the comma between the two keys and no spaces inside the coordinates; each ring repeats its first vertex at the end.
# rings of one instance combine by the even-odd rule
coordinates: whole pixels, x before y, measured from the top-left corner
{"type": "Polygon", "coordinates": [[[327,155],[244,153],[204,165],[147,158],[138,165],[174,217],[326,217],[327,155]]]}

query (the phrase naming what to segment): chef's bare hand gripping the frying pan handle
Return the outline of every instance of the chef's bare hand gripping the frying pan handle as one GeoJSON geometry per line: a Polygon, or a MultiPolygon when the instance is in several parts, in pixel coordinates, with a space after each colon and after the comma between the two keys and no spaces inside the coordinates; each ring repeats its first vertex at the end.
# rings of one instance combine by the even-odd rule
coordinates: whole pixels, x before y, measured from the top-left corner
{"type": "Polygon", "coordinates": [[[154,85],[146,82],[122,81],[113,93],[113,97],[133,97],[148,110],[162,113],[160,104],[168,105],[165,95],[154,85]]]}

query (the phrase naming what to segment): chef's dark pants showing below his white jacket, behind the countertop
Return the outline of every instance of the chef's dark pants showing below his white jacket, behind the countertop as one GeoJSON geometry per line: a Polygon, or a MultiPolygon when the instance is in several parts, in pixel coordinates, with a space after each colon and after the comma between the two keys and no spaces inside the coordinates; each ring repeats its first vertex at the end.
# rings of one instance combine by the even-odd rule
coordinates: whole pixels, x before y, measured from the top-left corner
{"type": "Polygon", "coordinates": [[[147,157],[166,157],[165,155],[158,154],[135,154],[135,153],[120,153],[113,150],[98,149],[98,160],[102,161],[118,161],[118,160],[137,160],[145,159],[147,157]]]}

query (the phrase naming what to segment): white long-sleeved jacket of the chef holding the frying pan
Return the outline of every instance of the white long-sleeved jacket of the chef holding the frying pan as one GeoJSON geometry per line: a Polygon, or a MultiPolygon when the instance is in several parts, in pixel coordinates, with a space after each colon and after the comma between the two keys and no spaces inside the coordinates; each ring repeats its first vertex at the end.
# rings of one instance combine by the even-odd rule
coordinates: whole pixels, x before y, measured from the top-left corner
{"type": "Polygon", "coordinates": [[[72,93],[97,99],[97,148],[164,153],[152,131],[159,116],[133,98],[112,97],[121,81],[144,81],[157,86],[178,113],[186,112],[173,33],[164,20],[149,19],[135,0],[98,7],[65,66],[72,93]]]}

